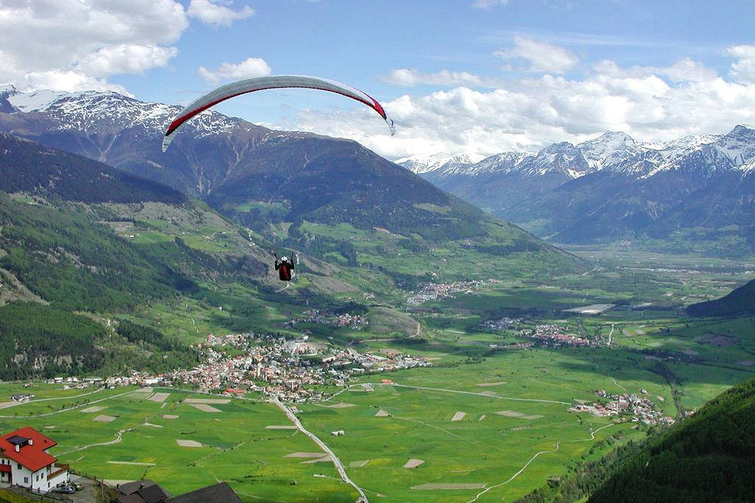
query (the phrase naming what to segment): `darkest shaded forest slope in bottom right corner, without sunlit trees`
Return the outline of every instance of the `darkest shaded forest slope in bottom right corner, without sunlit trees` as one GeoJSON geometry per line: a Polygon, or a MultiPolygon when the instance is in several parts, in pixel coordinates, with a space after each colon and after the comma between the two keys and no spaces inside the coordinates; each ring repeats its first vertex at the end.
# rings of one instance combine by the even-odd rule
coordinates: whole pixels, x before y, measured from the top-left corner
{"type": "Polygon", "coordinates": [[[753,463],[755,379],[749,379],[633,455],[588,503],[753,501],[753,463]]]}

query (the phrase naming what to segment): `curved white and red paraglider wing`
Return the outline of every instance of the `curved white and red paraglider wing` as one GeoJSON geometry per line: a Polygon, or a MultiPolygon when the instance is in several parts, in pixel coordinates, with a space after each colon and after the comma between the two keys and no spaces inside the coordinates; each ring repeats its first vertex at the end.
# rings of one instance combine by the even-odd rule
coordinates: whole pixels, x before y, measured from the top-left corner
{"type": "Polygon", "coordinates": [[[388,118],[380,103],[377,103],[373,97],[369,94],[363,93],[356,87],[348,86],[347,84],[341,84],[341,82],[331,81],[328,78],[308,77],[306,75],[270,75],[267,77],[255,77],[246,78],[242,81],[232,82],[212,90],[205,96],[195,100],[185,109],[181,110],[178,116],[168,126],[168,130],[165,131],[165,137],[162,140],[162,152],[168,149],[168,146],[173,140],[172,133],[178,129],[184,122],[193,118],[194,115],[204,112],[211,106],[217,105],[221,101],[228,100],[230,98],[239,96],[240,94],[252,93],[255,90],[263,89],[279,89],[282,87],[305,87],[307,89],[319,89],[328,90],[332,93],[341,94],[345,97],[349,97],[353,100],[364,103],[369,106],[375,112],[380,114],[382,118],[390,127],[390,134],[393,136],[396,133],[396,127],[393,125],[393,120],[388,118]]]}

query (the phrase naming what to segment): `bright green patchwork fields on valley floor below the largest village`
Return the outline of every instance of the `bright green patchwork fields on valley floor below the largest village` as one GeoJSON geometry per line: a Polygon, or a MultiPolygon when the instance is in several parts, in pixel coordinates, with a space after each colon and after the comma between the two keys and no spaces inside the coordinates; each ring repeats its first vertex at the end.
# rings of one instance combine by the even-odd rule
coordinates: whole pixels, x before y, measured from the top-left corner
{"type": "MultiPolygon", "coordinates": [[[[453,346],[430,347],[442,354],[453,346]]],[[[708,386],[701,389],[708,397],[727,387],[708,386]]],[[[16,388],[5,383],[3,391],[16,388]]],[[[478,501],[510,501],[564,473],[575,459],[606,452],[607,443],[596,448],[601,440],[643,436],[644,427],[633,429],[634,423],[568,410],[576,400],[596,400],[596,389],[640,388],[663,398],[664,413],[676,413],[667,382],[633,355],[506,351],[480,363],[365,376],[328,401],[298,404],[298,416],[376,501],[463,502],[488,488],[478,501]],[[384,378],[393,384],[381,383],[384,378]],[[344,436],[331,436],[338,430],[344,436]]],[[[270,403],[169,388],[85,396],[46,391],[63,399],[3,411],[0,428],[39,428],[59,443],[54,455],[76,471],[106,480],[150,478],[173,493],[225,480],[245,501],[356,499],[334,466],[315,455],[320,449],[312,440],[267,428],[291,425],[270,403]]]]}

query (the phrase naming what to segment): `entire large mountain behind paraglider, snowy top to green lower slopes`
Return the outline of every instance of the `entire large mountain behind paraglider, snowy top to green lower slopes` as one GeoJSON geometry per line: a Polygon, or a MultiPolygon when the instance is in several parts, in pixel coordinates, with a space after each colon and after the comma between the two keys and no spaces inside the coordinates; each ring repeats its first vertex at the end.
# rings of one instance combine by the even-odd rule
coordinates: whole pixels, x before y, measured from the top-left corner
{"type": "Polygon", "coordinates": [[[211,127],[190,121],[161,152],[165,106],[115,93],[63,99],[63,113],[54,112],[57,102],[34,113],[0,112],[0,130],[201,198],[279,246],[387,272],[390,286],[428,275],[454,281],[582,268],[351,140],[269,130],[212,112],[211,127]]]}

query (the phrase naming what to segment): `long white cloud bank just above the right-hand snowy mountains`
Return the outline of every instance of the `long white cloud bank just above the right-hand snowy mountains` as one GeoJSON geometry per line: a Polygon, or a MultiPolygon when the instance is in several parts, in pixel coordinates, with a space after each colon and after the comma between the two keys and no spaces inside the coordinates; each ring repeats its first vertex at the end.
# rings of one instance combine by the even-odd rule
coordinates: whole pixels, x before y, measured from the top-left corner
{"type": "MultiPolygon", "coordinates": [[[[639,141],[723,133],[735,124],[755,122],[755,81],[744,81],[749,50],[732,48],[727,54],[736,58],[736,79],[691,59],[665,67],[602,61],[581,78],[541,75],[502,81],[492,89],[459,85],[406,94],[381,102],[396,121],[394,137],[365,107],[304,111],[296,124],[287,125],[351,138],[394,159],[416,152],[537,152],[550,143],[578,143],[606,130],[621,130],[639,141]]],[[[396,75],[404,85],[422,76],[408,70],[396,75]]]]}

